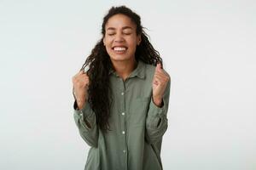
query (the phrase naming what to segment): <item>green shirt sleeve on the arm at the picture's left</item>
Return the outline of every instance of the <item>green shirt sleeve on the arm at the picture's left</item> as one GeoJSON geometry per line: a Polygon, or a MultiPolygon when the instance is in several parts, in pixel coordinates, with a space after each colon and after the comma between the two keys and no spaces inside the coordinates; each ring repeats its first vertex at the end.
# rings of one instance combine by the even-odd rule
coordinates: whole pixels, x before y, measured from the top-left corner
{"type": "Polygon", "coordinates": [[[75,101],[73,104],[73,117],[77,127],[79,127],[80,136],[88,145],[97,147],[99,131],[96,124],[96,114],[90,108],[90,104],[86,103],[84,107],[79,110],[77,102],[75,101]]]}

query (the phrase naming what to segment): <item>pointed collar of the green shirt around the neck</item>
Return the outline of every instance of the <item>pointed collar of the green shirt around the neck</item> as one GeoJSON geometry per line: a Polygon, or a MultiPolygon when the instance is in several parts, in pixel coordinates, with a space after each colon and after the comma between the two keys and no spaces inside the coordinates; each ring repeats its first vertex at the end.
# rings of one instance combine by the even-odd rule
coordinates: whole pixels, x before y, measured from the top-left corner
{"type": "MultiPolygon", "coordinates": [[[[119,77],[119,75],[116,73],[116,71],[113,71],[111,68],[109,71],[109,75],[113,74],[116,77],[119,77]]],[[[142,60],[138,59],[137,62],[137,67],[135,70],[131,71],[131,74],[129,77],[139,77],[139,78],[144,78],[145,77],[145,63],[143,63],[142,60]]]]}

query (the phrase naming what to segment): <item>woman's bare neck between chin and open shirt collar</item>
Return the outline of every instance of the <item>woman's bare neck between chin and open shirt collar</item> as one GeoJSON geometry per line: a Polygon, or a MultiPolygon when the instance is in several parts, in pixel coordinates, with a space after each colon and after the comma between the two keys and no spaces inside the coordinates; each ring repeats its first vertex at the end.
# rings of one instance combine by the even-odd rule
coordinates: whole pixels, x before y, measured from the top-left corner
{"type": "Polygon", "coordinates": [[[137,60],[135,58],[129,60],[112,60],[113,68],[122,79],[125,81],[132,71],[137,67],[137,60]]]}

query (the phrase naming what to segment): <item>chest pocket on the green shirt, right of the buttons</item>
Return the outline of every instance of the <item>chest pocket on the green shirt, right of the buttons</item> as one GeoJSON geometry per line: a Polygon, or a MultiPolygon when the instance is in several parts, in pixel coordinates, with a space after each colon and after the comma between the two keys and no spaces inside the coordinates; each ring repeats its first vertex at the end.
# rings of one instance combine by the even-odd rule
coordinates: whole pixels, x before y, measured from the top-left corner
{"type": "Polygon", "coordinates": [[[130,126],[145,126],[150,99],[150,97],[132,99],[129,105],[130,126]]]}

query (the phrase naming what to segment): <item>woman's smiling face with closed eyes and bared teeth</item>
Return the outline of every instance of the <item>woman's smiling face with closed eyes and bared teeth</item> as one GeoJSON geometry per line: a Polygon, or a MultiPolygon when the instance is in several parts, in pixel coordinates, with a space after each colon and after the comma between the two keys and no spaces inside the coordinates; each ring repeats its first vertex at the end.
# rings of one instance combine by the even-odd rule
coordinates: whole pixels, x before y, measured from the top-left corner
{"type": "Polygon", "coordinates": [[[124,14],[115,14],[108,19],[103,42],[111,60],[125,61],[135,58],[136,47],[141,42],[136,29],[137,26],[124,14]]]}

